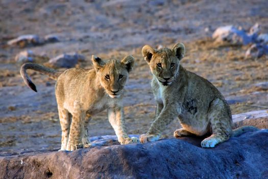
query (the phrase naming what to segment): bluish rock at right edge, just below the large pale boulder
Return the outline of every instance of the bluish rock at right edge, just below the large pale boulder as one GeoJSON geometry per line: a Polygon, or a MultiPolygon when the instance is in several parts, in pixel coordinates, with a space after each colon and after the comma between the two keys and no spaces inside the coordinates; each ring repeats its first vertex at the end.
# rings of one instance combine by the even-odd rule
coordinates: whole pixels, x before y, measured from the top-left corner
{"type": "Polygon", "coordinates": [[[260,58],[263,55],[268,54],[268,44],[265,43],[254,43],[246,51],[246,58],[260,58]]]}

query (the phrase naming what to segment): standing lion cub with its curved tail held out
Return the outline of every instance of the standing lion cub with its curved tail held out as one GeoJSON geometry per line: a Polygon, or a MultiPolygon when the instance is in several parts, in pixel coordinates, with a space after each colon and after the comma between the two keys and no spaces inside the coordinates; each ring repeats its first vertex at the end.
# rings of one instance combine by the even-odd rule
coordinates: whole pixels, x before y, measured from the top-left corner
{"type": "Polygon", "coordinates": [[[25,63],[20,74],[25,83],[36,91],[26,73],[35,70],[57,80],[55,86],[59,118],[62,129],[61,149],[76,150],[89,147],[87,124],[91,116],[108,109],[108,119],[120,144],[137,143],[126,132],[122,96],[124,86],[132,70],[134,58],[127,56],[121,61],[104,62],[92,56],[94,69],[68,69],[59,72],[35,63],[25,63]],[[72,116],[72,119],[71,119],[72,116]]]}

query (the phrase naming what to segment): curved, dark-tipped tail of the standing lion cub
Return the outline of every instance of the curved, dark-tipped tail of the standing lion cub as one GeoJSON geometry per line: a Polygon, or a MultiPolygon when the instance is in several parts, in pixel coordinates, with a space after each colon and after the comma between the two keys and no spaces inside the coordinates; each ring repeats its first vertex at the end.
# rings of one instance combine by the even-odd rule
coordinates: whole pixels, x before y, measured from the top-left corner
{"type": "Polygon", "coordinates": [[[57,80],[57,78],[60,76],[62,72],[59,72],[54,69],[47,68],[43,65],[36,64],[36,63],[25,63],[20,68],[20,75],[23,78],[23,81],[25,84],[27,84],[28,87],[33,89],[33,91],[37,92],[35,84],[31,81],[30,77],[27,74],[27,70],[31,69],[37,72],[40,72],[44,75],[47,75],[48,77],[57,80]]]}

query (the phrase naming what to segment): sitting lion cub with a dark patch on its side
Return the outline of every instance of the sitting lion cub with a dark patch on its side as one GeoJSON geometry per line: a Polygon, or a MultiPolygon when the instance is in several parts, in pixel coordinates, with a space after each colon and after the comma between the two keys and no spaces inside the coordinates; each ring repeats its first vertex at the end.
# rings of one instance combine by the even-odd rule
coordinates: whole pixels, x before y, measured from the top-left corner
{"type": "MultiPolygon", "coordinates": [[[[149,131],[141,135],[141,143],[156,141],[166,125],[179,117],[182,128],[174,137],[189,135],[211,136],[201,142],[202,147],[214,147],[232,136],[231,110],[223,95],[206,79],[185,70],[180,65],[185,47],[177,43],[172,49],[142,48],[142,55],[153,74],[152,90],[157,102],[155,120],[149,131]]],[[[234,136],[247,126],[235,130],[234,136]]]]}

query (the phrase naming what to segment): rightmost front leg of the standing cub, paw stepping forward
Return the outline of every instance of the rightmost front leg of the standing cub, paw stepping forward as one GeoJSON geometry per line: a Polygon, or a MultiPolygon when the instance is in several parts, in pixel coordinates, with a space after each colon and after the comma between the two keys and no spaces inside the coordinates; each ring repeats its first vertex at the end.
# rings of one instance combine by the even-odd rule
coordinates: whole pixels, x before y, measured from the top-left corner
{"type": "Polygon", "coordinates": [[[120,144],[138,143],[138,138],[130,138],[126,132],[124,111],[122,106],[113,106],[108,108],[108,119],[112,125],[115,135],[120,144]]]}

